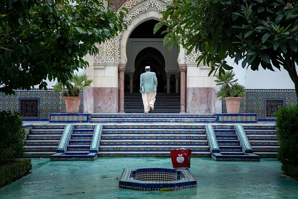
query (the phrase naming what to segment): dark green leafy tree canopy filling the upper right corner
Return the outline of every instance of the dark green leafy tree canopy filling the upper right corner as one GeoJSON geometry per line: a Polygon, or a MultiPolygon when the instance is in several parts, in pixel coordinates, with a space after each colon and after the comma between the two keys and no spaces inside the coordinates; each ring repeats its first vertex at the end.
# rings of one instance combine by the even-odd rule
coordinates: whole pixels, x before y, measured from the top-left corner
{"type": "MultiPolygon", "coordinates": [[[[200,52],[198,65],[212,73],[231,70],[225,58],[242,67],[280,70],[283,67],[298,91],[298,4],[283,0],[174,0],[162,12],[156,33],[168,27],[164,44],[182,45],[187,54],[200,52]]],[[[179,48],[178,48],[179,49],[179,48]]]]}

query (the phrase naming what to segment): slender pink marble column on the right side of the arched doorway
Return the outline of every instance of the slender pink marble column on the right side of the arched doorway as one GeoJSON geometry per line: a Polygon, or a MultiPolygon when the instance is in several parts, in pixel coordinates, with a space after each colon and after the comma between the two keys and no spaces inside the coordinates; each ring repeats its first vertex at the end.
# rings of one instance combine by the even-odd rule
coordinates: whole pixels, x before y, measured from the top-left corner
{"type": "Polygon", "coordinates": [[[186,113],[186,64],[179,64],[180,71],[180,113],[186,113]]]}

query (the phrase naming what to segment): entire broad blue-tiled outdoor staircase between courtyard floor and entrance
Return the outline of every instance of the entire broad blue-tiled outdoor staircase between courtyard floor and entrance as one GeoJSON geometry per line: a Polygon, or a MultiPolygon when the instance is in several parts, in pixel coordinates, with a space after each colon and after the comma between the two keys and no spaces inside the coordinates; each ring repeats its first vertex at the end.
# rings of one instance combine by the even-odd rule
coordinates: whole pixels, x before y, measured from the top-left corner
{"type": "Polygon", "coordinates": [[[221,124],[215,123],[215,118],[214,114],[92,114],[90,123],[34,125],[28,133],[25,157],[170,157],[170,150],[179,148],[192,149],[192,157],[212,157],[216,161],[276,157],[279,143],[274,124],[221,124]],[[206,126],[212,127],[214,139],[206,134],[206,126]],[[94,148],[96,136],[98,144],[94,148]]]}

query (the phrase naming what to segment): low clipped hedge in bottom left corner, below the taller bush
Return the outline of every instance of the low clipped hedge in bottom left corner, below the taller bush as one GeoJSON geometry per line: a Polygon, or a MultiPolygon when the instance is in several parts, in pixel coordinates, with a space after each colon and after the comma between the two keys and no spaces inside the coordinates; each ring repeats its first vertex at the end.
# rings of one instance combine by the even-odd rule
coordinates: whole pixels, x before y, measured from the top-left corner
{"type": "Polygon", "coordinates": [[[31,159],[18,159],[0,166],[0,188],[29,174],[31,159]]]}

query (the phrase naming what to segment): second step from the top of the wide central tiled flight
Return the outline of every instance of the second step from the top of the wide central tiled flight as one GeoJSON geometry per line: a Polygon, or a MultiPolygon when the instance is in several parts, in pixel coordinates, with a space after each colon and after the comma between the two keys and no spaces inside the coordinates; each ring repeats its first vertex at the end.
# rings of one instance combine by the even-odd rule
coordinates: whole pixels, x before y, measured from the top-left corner
{"type": "Polygon", "coordinates": [[[192,140],[206,140],[207,136],[206,134],[203,135],[177,135],[177,134],[102,134],[101,135],[101,140],[116,140],[116,139],[121,139],[121,140],[131,140],[131,139],[150,139],[150,140],[162,140],[162,139],[167,139],[167,140],[182,140],[182,139],[192,139],[192,140]]]}

